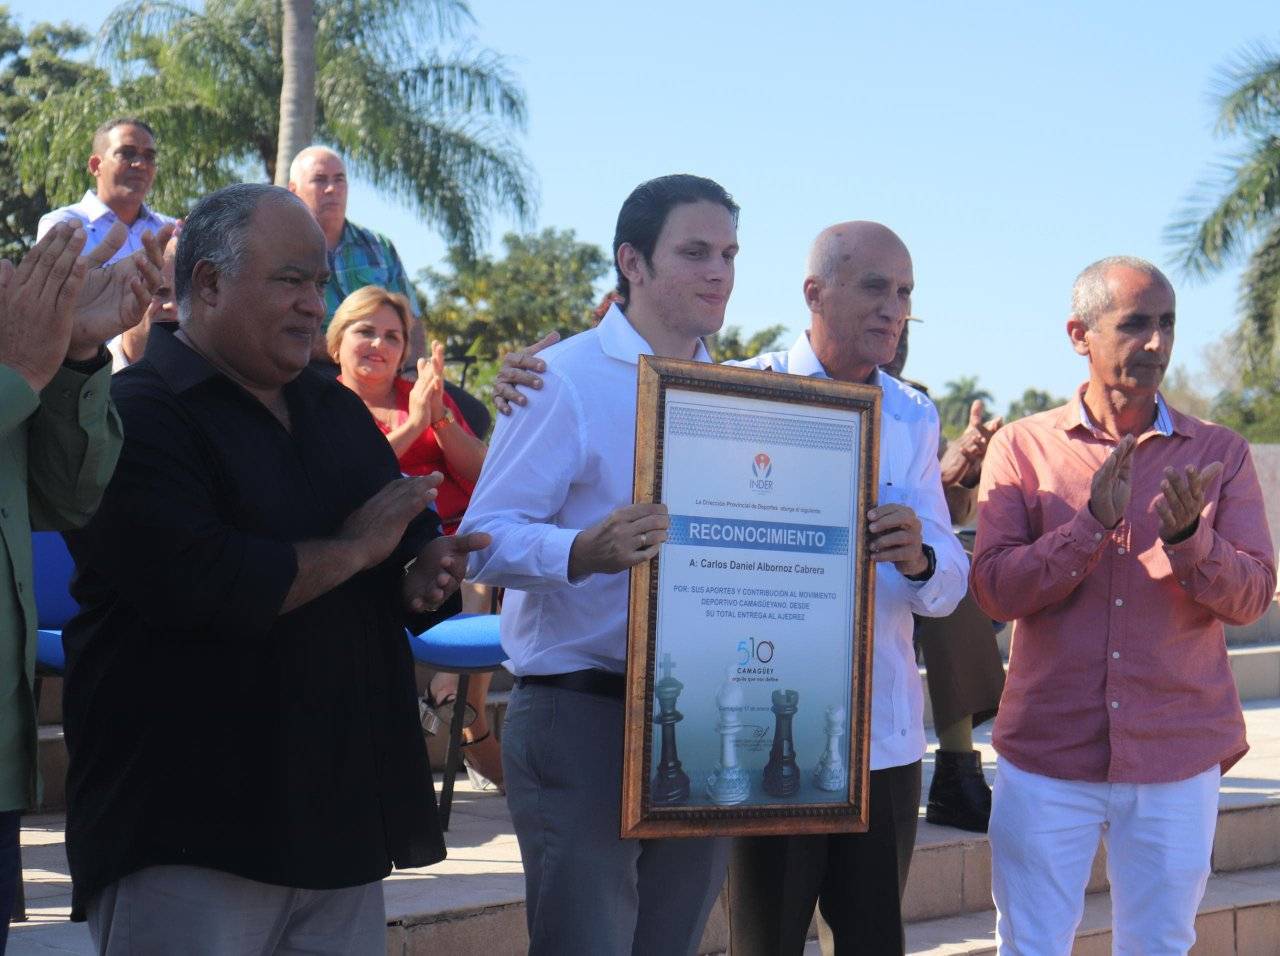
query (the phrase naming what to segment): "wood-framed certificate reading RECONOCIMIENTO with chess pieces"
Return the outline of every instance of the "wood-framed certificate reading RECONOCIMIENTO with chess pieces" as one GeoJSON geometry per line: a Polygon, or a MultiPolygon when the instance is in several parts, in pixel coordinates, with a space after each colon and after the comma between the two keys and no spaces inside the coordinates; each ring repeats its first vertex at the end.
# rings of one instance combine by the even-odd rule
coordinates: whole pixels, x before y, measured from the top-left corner
{"type": "Polygon", "coordinates": [[[622,836],[867,829],[881,392],[643,356],[622,836]]]}

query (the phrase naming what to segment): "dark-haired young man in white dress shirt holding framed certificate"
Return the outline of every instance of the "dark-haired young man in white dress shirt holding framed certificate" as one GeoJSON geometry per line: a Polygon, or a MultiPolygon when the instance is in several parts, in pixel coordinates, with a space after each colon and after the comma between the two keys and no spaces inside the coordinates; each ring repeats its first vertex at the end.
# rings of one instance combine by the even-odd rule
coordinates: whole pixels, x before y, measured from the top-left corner
{"type": "Polygon", "coordinates": [[[486,531],[471,576],[502,612],[516,689],[507,802],[525,865],[530,953],[695,953],[727,840],[621,840],[628,568],[667,538],[631,502],[640,355],[708,361],[733,291],[737,205],[719,184],[640,184],[613,238],[621,307],[548,349],[527,411],[498,422],[458,532],[486,531]]]}

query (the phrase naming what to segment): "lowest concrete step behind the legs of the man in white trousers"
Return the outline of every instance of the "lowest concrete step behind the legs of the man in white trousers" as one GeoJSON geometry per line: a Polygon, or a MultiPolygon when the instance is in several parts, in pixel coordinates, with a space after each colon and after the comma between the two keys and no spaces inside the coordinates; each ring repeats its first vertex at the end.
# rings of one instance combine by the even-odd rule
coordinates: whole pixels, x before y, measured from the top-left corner
{"type": "MultiPolygon", "coordinates": [[[[1192,956],[1276,956],[1280,952],[1280,866],[1210,877],[1196,916],[1192,956]]],[[[812,947],[817,951],[817,947],[812,947]]],[[[906,950],[919,956],[993,956],[993,910],[909,924],[906,950]]],[[[1110,956],[1111,898],[1091,895],[1073,956],[1110,956]]]]}

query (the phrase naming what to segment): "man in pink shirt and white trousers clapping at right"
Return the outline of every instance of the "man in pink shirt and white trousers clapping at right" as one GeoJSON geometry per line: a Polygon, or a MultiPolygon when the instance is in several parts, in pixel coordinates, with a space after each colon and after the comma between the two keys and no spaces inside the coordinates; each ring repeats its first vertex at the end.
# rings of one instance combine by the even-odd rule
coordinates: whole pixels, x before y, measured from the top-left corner
{"type": "Polygon", "coordinates": [[[1002,953],[1069,953],[1100,838],[1116,952],[1185,953],[1221,773],[1248,749],[1222,625],[1276,571],[1249,447],[1158,393],[1174,291],[1116,256],[1075,280],[1089,380],[991,439],[973,591],[1016,621],[996,718],[992,889],[1002,953]]]}

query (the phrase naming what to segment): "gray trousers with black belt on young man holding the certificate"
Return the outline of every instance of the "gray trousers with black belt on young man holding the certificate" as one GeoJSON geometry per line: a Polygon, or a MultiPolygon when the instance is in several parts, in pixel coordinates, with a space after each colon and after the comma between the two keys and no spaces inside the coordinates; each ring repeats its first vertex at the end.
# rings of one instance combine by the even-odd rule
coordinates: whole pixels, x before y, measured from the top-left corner
{"type": "Polygon", "coordinates": [[[621,700],[511,692],[507,805],[525,863],[530,956],[692,956],[727,840],[621,840],[621,700]]]}

